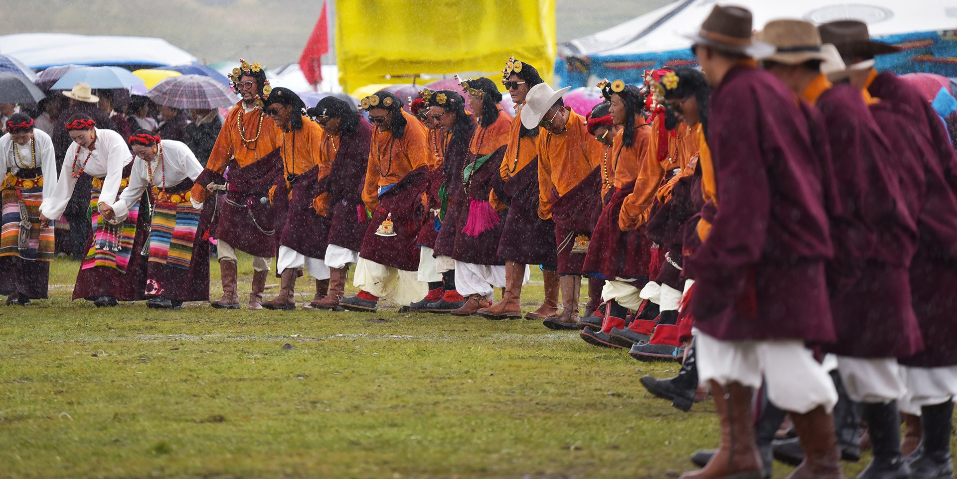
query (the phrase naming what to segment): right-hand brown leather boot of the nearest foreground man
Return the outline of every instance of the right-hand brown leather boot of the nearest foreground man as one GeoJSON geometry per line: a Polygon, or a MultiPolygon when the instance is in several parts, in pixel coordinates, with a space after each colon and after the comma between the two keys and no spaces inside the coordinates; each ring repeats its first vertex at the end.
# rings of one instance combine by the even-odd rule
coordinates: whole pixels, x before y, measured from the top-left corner
{"type": "Polygon", "coordinates": [[[790,413],[790,419],[801,442],[804,461],[788,479],[843,479],[834,415],[818,406],[805,414],[790,413]]]}

